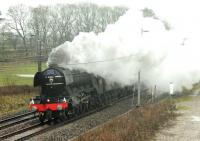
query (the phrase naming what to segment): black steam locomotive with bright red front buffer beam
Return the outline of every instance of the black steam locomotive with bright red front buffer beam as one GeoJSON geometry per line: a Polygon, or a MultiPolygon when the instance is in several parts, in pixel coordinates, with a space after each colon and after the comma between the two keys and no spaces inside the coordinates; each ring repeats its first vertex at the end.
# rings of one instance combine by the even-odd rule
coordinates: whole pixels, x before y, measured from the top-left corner
{"type": "Polygon", "coordinates": [[[131,86],[108,85],[100,76],[61,67],[37,72],[34,87],[40,87],[40,95],[30,100],[30,110],[41,122],[65,120],[132,93],[131,86]]]}

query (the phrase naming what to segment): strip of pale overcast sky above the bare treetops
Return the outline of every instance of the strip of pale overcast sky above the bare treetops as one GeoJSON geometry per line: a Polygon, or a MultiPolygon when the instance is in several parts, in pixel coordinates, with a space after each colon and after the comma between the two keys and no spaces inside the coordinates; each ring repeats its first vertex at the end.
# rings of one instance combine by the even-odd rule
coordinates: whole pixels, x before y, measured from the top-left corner
{"type": "Polygon", "coordinates": [[[0,4],[0,11],[5,14],[10,6],[17,4],[25,4],[27,6],[38,5],[54,5],[57,3],[78,3],[78,2],[92,2],[100,5],[124,5],[128,6],[132,0],[2,0],[0,4]]]}

